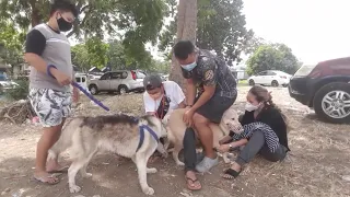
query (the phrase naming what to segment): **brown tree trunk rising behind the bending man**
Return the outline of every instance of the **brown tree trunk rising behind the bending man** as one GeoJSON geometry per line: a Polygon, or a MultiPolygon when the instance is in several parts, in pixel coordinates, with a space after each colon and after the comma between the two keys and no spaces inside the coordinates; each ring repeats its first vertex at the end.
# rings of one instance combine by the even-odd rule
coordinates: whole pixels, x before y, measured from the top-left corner
{"type": "MultiPolygon", "coordinates": [[[[179,0],[177,7],[177,33],[176,42],[191,40],[196,45],[197,31],[197,0],[179,0]]],[[[185,80],[183,78],[180,67],[175,57],[172,57],[172,69],[170,80],[178,83],[182,89],[185,88],[185,80]]],[[[186,90],[184,90],[186,94],[186,90]]]]}

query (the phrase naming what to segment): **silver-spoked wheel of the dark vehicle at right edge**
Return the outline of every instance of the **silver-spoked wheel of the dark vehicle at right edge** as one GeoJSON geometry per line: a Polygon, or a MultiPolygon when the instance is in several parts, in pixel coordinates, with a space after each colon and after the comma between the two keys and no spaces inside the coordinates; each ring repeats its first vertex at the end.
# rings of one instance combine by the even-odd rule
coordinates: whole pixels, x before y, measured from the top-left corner
{"type": "Polygon", "coordinates": [[[343,124],[350,121],[350,84],[334,82],[320,88],[314,96],[315,113],[324,120],[343,124]]]}

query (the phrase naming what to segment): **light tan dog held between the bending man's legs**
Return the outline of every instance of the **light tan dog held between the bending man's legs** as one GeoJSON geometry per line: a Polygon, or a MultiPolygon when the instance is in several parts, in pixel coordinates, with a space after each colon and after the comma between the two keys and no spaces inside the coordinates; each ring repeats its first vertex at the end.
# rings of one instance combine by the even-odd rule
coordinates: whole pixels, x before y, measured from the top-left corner
{"type": "MultiPolygon", "coordinates": [[[[173,159],[177,165],[185,165],[182,161],[178,160],[178,153],[184,148],[183,140],[185,136],[185,130],[187,126],[183,121],[183,116],[185,114],[185,108],[174,109],[171,114],[167,114],[163,118],[163,123],[166,125],[167,138],[170,143],[174,144],[173,159]]],[[[219,141],[230,134],[230,127],[241,125],[238,121],[237,112],[231,106],[223,114],[221,123],[209,125],[210,129],[213,132],[213,147],[219,147],[219,141]]],[[[164,146],[167,149],[168,144],[164,146]]],[[[230,163],[228,153],[223,153],[223,160],[225,163],[230,163]]]]}

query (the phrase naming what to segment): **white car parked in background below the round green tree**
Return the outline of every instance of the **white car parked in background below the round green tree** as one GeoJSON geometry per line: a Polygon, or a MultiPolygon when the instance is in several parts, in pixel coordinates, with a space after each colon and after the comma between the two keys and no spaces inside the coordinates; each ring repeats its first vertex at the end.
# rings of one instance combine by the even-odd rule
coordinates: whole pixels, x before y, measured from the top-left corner
{"type": "Polygon", "coordinates": [[[249,85],[261,84],[271,86],[288,86],[291,74],[279,70],[266,70],[248,78],[249,85]]]}

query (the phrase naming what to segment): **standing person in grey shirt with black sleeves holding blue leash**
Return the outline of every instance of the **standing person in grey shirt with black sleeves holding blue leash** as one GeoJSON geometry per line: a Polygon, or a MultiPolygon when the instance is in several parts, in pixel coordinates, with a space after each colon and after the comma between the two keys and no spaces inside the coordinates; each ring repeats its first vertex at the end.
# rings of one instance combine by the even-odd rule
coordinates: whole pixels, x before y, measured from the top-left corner
{"type": "Polygon", "coordinates": [[[74,79],[70,44],[62,33],[72,28],[77,16],[73,3],[56,0],[49,21],[34,26],[26,36],[24,58],[31,66],[28,97],[44,127],[36,149],[34,178],[45,184],[59,182],[50,173],[61,172],[63,167],[57,160],[47,161],[47,154],[60,137],[72,100],[79,99],[78,90],[70,85],[74,79]]]}

